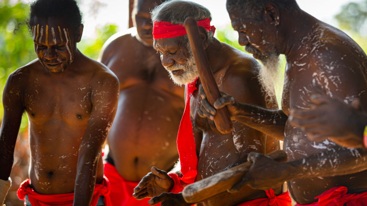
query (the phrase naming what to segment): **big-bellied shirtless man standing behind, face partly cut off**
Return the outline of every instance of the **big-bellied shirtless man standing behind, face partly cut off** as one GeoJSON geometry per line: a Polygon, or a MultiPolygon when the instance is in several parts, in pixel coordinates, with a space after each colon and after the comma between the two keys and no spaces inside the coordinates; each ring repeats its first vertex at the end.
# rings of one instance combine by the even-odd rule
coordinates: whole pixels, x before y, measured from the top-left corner
{"type": "Polygon", "coordinates": [[[134,27],[112,36],[101,62],[120,80],[116,120],[107,137],[105,175],[114,206],[148,205],[132,197],[134,187],[152,166],[169,171],[178,160],[176,137],[184,89],[175,85],[153,49],[149,11],[160,0],[136,0],[134,27]]]}

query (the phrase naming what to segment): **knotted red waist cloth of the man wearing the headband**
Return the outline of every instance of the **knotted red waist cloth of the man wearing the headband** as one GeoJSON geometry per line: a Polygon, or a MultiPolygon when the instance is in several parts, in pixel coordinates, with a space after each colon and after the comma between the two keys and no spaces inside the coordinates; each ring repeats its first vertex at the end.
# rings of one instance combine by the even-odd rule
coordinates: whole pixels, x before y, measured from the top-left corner
{"type": "Polygon", "coordinates": [[[292,206],[292,200],[288,191],[278,196],[274,194],[273,189],[265,190],[265,193],[268,198],[250,200],[237,206],[292,206]]]}

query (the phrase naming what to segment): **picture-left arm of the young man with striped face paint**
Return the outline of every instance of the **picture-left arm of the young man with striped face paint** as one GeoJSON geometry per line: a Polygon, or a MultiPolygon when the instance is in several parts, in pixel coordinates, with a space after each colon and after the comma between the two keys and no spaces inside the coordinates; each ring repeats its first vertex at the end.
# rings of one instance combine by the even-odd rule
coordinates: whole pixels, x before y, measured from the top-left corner
{"type": "Polygon", "coordinates": [[[15,142],[24,111],[20,74],[15,71],[6,82],[3,92],[4,116],[0,130],[0,179],[7,180],[12,163],[15,142]]]}

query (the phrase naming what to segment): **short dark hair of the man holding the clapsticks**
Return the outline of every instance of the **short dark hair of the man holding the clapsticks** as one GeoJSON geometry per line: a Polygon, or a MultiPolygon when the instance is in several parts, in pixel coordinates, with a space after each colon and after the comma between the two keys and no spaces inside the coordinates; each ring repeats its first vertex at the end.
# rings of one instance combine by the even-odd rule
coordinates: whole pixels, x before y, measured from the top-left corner
{"type": "Polygon", "coordinates": [[[227,0],[226,8],[228,12],[240,9],[241,14],[261,20],[267,3],[273,3],[292,14],[297,14],[301,11],[295,0],[227,0]]]}

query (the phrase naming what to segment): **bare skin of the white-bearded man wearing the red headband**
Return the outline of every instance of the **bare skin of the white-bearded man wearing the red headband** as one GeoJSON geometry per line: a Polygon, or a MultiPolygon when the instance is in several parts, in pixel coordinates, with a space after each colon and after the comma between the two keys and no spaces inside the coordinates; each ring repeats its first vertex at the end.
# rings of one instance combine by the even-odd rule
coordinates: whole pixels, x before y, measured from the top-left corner
{"type": "MultiPolygon", "coordinates": [[[[207,32],[203,27],[199,27],[199,30],[203,40],[203,47],[219,89],[233,95],[236,99],[241,99],[243,102],[267,107],[265,95],[261,92],[261,85],[259,85],[256,77],[258,63],[250,56],[227,44],[220,43],[216,39],[208,40],[207,32]]],[[[185,64],[189,58],[186,43],[187,40],[184,37],[157,39],[154,41],[154,48],[160,52],[162,65],[169,72],[172,72],[171,66],[178,63],[185,64]]],[[[183,75],[185,71],[181,69],[173,73],[174,76],[179,76],[183,75]]],[[[197,81],[196,87],[201,87],[200,80],[197,81]]],[[[226,135],[220,133],[215,128],[212,120],[198,115],[197,111],[201,107],[201,100],[199,91],[194,91],[190,98],[190,113],[198,157],[196,181],[246,162],[246,157],[251,151],[265,154],[265,152],[271,152],[279,148],[278,141],[271,137],[267,139],[264,133],[251,129],[239,122],[233,123],[232,133],[226,135]]],[[[268,106],[272,107],[270,104],[268,106]]],[[[134,190],[137,192],[134,196],[139,198],[156,196],[157,194],[149,192],[140,195],[139,191],[147,191],[145,188],[153,187],[153,184],[158,184],[159,181],[165,182],[167,186],[164,189],[168,192],[168,185],[172,187],[172,184],[169,183],[172,180],[170,178],[170,180],[167,180],[165,179],[166,177],[159,179],[155,176],[150,173],[143,177],[143,180],[134,190]],[[141,188],[141,185],[145,186],[141,188]]],[[[281,187],[274,189],[276,194],[281,193],[281,187]]],[[[204,201],[203,205],[236,206],[252,199],[265,197],[266,194],[262,190],[252,190],[249,187],[244,187],[237,194],[225,192],[221,196],[214,196],[204,201]]],[[[160,196],[153,198],[152,201],[154,203],[163,201],[162,203],[166,205],[187,205],[185,202],[180,202],[183,201],[182,196],[171,193],[162,193],[160,196]]]]}

